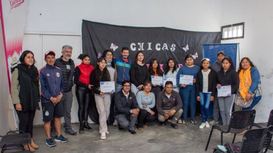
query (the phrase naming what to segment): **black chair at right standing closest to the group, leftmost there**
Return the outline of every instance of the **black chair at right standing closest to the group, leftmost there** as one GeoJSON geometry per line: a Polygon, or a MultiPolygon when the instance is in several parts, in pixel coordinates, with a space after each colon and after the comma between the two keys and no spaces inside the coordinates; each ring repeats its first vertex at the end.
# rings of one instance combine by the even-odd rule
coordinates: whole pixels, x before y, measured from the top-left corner
{"type": "Polygon", "coordinates": [[[231,115],[231,120],[229,125],[213,125],[212,130],[206,145],[205,151],[207,151],[211,136],[214,129],[217,129],[221,132],[221,145],[223,145],[223,133],[233,133],[233,143],[235,140],[236,134],[242,133],[247,129],[251,129],[254,123],[256,111],[255,110],[240,110],[235,111],[231,115]]]}

